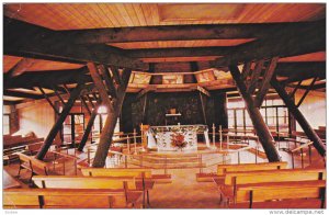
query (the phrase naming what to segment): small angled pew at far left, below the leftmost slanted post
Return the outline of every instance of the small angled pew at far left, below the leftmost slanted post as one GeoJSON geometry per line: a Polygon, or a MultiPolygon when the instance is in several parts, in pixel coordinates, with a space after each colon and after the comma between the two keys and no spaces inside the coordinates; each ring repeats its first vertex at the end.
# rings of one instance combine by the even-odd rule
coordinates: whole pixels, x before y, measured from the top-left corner
{"type": "Polygon", "coordinates": [[[49,168],[52,163],[44,162],[42,160],[36,159],[34,156],[26,156],[24,154],[16,154],[20,158],[20,170],[19,176],[21,174],[22,169],[27,169],[31,171],[31,178],[35,174],[48,176],[49,168]]]}

